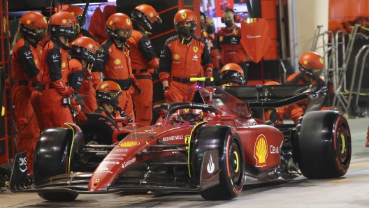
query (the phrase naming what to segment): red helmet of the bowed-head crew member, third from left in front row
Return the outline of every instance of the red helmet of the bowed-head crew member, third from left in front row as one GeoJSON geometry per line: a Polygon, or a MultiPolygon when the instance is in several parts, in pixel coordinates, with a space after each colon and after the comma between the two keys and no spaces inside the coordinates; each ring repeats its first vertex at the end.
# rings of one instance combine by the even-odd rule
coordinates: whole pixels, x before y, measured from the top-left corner
{"type": "Polygon", "coordinates": [[[101,51],[99,43],[89,37],[80,37],[71,43],[71,58],[85,59],[88,64],[94,64],[96,53],[101,51]]]}

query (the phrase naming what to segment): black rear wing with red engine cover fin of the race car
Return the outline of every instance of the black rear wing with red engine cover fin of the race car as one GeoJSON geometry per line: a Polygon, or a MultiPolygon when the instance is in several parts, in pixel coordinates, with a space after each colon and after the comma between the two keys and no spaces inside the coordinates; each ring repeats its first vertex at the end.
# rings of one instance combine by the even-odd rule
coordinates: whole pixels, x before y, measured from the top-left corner
{"type": "Polygon", "coordinates": [[[309,99],[308,112],[319,110],[324,102],[325,96],[318,89],[316,84],[207,87],[196,91],[193,102],[215,105],[228,114],[245,118],[251,109],[283,107],[309,99]]]}

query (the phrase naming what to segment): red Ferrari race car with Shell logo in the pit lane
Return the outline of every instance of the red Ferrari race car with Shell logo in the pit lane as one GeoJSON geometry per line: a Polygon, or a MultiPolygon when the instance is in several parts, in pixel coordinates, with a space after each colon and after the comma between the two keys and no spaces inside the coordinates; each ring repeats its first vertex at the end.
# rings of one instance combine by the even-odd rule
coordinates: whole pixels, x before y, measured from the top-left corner
{"type": "MultiPolygon", "coordinates": [[[[154,105],[153,126],[117,128],[109,141],[89,141],[79,126],[43,131],[34,153],[33,184],[26,154],[16,155],[10,191],[50,201],[119,191],[198,192],[206,200],[236,198],[246,184],[346,174],[351,135],[341,112],[317,111],[314,85],[207,87],[192,103],[154,105]],[[250,112],[309,99],[298,124],[273,126],[250,112]]],[[[261,111],[263,112],[263,111],[261,111]]],[[[109,122],[100,115],[100,120],[109,122]]],[[[261,116],[262,118],[262,116],[261,116]]],[[[120,122],[120,118],[115,123],[120,122]]],[[[93,131],[98,131],[98,126],[93,131]]],[[[86,130],[88,131],[88,129],[86,130]]],[[[97,140],[97,139],[96,139],[97,140]]]]}

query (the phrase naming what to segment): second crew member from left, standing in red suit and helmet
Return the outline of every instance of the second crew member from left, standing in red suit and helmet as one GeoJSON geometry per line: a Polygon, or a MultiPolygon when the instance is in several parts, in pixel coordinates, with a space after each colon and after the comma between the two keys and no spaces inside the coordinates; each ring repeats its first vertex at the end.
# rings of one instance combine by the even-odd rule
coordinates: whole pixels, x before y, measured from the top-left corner
{"type": "Polygon", "coordinates": [[[68,45],[77,36],[79,26],[71,13],[61,11],[52,15],[48,27],[51,40],[43,49],[45,90],[40,100],[43,124],[45,128],[65,127],[65,122],[73,123],[71,110],[77,108],[75,91],[68,86],[68,45]]]}

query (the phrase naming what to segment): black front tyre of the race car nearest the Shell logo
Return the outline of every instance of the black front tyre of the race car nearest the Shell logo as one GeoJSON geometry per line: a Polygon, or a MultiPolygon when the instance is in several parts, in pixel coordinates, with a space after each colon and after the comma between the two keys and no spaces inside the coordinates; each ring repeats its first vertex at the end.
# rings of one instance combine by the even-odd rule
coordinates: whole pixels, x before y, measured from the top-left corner
{"type": "Polygon", "coordinates": [[[194,144],[190,149],[194,177],[200,178],[206,151],[217,149],[219,155],[219,184],[200,191],[205,200],[231,200],[243,189],[245,155],[240,136],[231,129],[229,126],[207,126],[194,131],[194,144]]]}

